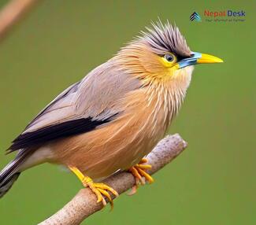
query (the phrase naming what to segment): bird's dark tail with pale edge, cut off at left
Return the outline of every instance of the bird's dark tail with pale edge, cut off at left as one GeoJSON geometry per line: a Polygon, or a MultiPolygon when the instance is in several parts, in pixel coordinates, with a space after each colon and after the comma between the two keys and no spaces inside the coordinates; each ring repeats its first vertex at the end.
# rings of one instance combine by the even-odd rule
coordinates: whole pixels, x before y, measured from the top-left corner
{"type": "Polygon", "coordinates": [[[3,197],[6,192],[13,186],[13,183],[20,175],[20,165],[28,157],[28,152],[20,150],[14,160],[9,162],[5,168],[0,172],[0,197],[3,197]]]}

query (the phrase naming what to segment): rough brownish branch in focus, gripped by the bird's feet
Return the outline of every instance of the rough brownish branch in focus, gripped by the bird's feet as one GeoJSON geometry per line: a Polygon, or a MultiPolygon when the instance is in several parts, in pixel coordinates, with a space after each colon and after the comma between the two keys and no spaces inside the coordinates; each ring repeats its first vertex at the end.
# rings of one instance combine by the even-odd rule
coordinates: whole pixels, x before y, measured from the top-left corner
{"type": "MultiPolygon", "coordinates": [[[[166,164],[169,164],[187,147],[187,142],[180,137],[180,135],[168,135],[163,138],[153,151],[147,156],[148,163],[152,165],[150,174],[158,172],[166,164]]],[[[105,179],[103,183],[117,190],[119,194],[124,193],[126,190],[135,185],[135,179],[132,174],[128,172],[121,172],[116,175],[110,176],[105,179]]],[[[112,197],[114,197],[112,195],[112,197]]],[[[77,225],[83,219],[86,219],[91,214],[102,209],[102,204],[96,202],[95,194],[89,188],[82,189],[72,198],[71,201],[50,218],[44,220],[39,225],[77,225]]],[[[107,201],[107,200],[106,200],[107,201]]]]}

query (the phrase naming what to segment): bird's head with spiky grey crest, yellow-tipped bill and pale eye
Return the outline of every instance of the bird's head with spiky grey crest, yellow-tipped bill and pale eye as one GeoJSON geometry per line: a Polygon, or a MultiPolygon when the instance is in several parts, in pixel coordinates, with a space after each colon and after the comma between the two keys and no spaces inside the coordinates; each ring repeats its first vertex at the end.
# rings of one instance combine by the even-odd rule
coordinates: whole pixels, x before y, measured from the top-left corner
{"type": "Polygon", "coordinates": [[[185,86],[193,65],[223,62],[210,54],[191,51],[179,28],[160,20],[124,46],[115,58],[125,70],[146,82],[184,80],[185,86]]]}

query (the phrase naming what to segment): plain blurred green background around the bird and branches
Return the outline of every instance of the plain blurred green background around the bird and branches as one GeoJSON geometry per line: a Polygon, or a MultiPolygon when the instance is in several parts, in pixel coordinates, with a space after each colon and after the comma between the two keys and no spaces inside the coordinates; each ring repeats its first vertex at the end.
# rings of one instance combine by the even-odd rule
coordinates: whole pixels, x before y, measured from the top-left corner
{"type": "MultiPolygon", "coordinates": [[[[4,6],[6,1],[1,1],[4,6]]],[[[87,224],[256,224],[255,2],[42,1],[0,43],[0,164],[4,150],[57,94],[112,57],[151,20],[175,22],[191,50],[224,64],[198,65],[170,133],[187,150],[138,194],[123,194],[87,224]],[[246,21],[206,22],[204,9],[246,11],[246,21]],[[191,22],[194,11],[202,22],[191,22]]],[[[35,224],[81,184],[43,164],[0,201],[0,224],[35,224]]]]}

